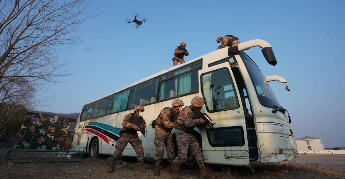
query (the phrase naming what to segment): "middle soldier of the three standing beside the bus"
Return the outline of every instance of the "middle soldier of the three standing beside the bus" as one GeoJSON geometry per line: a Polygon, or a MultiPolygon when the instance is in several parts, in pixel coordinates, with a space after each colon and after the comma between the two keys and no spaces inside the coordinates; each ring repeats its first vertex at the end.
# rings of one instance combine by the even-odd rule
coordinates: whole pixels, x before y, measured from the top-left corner
{"type": "Polygon", "coordinates": [[[156,161],[154,175],[159,175],[159,167],[164,154],[164,144],[167,149],[168,161],[170,163],[170,172],[174,171],[175,152],[174,141],[172,139],[171,130],[175,127],[178,111],[183,107],[183,101],[174,99],[171,107],[164,108],[160,111],[158,118],[155,120],[155,145],[156,154],[154,160],[156,161]]]}

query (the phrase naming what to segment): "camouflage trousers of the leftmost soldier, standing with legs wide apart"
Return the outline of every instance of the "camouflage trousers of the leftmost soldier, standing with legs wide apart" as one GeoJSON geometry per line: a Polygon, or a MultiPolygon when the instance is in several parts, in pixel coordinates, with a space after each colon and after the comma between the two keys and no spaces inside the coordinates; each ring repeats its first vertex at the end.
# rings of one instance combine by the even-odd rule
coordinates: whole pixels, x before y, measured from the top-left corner
{"type": "Polygon", "coordinates": [[[122,152],[124,152],[128,143],[132,145],[133,149],[137,153],[138,162],[144,161],[144,148],[142,148],[142,141],[140,141],[138,134],[123,133],[115,144],[116,150],[111,156],[112,162],[117,162],[117,159],[121,156],[122,152]]]}

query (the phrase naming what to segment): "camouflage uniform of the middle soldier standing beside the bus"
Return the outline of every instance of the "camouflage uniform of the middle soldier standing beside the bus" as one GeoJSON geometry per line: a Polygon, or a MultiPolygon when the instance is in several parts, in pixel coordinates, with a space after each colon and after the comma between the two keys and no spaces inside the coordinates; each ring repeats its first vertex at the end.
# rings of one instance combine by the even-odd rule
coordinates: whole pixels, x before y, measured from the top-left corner
{"type": "Polygon", "coordinates": [[[156,154],[154,160],[161,163],[164,154],[164,144],[167,149],[168,161],[171,163],[175,159],[174,141],[172,139],[171,130],[175,127],[176,118],[173,108],[164,108],[156,121],[155,126],[155,145],[156,154]]]}

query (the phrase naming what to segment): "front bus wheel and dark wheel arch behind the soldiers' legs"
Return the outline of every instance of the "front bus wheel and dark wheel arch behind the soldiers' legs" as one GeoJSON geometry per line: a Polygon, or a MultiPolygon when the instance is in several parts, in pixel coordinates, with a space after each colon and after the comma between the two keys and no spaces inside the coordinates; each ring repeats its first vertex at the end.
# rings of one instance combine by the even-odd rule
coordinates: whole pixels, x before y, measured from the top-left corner
{"type": "MultiPolygon", "coordinates": [[[[201,135],[196,131],[193,132],[193,135],[196,138],[196,140],[198,141],[198,143],[202,149],[203,147],[201,144],[201,135]]],[[[176,141],[175,134],[173,135],[173,138],[174,138],[174,149],[175,149],[175,157],[176,157],[178,154],[178,148],[177,148],[177,141],[176,141]]],[[[198,167],[196,158],[194,157],[193,154],[191,154],[191,152],[189,150],[187,153],[187,160],[181,165],[181,167],[184,169],[195,169],[198,167]]]]}

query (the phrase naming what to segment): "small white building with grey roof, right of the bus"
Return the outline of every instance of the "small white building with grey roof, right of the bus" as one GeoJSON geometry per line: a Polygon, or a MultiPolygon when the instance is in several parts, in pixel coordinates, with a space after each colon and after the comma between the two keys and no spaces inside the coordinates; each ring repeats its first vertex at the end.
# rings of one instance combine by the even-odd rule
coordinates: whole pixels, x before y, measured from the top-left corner
{"type": "Polygon", "coordinates": [[[297,150],[324,150],[321,138],[304,136],[296,139],[297,150]]]}

